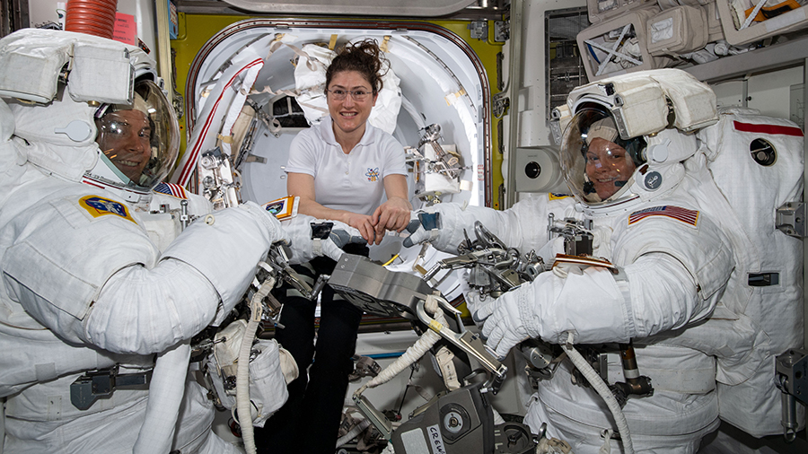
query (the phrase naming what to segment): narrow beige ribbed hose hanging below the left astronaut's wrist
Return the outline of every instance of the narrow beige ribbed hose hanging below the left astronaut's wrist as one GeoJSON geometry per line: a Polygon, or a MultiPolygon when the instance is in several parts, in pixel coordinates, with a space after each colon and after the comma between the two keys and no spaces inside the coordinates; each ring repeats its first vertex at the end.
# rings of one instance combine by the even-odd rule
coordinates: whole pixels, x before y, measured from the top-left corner
{"type": "Polygon", "coordinates": [[[255,340],[255,333],[258,330],[263,313],[261,301],[269,294],[275,286],[275,278],[269,277],[264,284],[261,284],[258,292],[250,300],[250,322],[247,323],[247,332],[242,338],[242,345],[239,347],[239,363],[236,369],[236,408],[239,412],[237,420],[242,428],[242,441],[247,454],[255,454],[255,432],[252,428],[252,404],[250,403],[250,352],[252,351],[252,341],[255,340]],[[242,418],[244,423],[242,423],[242,418]]]}

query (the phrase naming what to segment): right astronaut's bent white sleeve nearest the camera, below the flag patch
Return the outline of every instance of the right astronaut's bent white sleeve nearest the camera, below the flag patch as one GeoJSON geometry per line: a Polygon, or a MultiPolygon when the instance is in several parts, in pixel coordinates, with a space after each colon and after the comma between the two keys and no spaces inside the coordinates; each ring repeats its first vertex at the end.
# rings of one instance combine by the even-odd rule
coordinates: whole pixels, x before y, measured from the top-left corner
{"type": "MultiPolygon", "coordinates": [[[[514,296],[532,337],[576,343],[628,342],[706,318],[723,295],[734,262],[714,224],[698,229],[676,221],[645,221],[618,241],[615,263],[624,277],[602,267],[543,273],[514,296]]],[[[619,233],[619,231],[618,231],[619,233]]],[[[504,297],[508,297],[508,293],[504,297]]]]}

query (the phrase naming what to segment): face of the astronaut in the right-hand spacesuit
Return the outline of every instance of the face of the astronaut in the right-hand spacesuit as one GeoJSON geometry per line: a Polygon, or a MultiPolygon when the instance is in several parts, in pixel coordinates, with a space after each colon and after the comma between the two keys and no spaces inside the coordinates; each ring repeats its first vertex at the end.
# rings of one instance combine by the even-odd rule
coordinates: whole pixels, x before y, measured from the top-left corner
{"type": "Polygon", "coordinates": [[[634,173],[636,166],[628,152],[601,137],[593,139],[586,151],[586,176],[602,200],[613,196],[634,173]]]}

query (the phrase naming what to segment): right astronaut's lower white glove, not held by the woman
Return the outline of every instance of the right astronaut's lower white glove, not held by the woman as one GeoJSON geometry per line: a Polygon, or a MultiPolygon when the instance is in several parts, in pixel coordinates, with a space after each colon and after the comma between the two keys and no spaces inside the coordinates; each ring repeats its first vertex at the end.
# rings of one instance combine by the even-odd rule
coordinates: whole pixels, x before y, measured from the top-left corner
{"type": "Polygon", "coordinates": [[[488,300],[477,311],[475,317],[486,320],[482,329],[486,345],[497,356],[504,358],[514,345],[538,332],[538,327],[531,326],[538,322],[531,310],[534,291],[530,284],[523,284],[496,300],[488,300]]]}

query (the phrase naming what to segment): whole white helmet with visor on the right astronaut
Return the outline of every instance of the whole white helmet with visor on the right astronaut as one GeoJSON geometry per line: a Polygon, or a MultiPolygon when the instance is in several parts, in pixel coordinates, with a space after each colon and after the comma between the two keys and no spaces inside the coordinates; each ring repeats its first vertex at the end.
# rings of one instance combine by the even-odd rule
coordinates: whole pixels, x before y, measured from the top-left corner
{"type": "Polygon", "coordinates": [[[561,170],[584,212],[609,214],[676,188],[716,123],[716,94],[678,69],[621,74],[575,88],[553,109],[561,170]],[[560,132],[563,131],[563,135],[560,132]]]}

